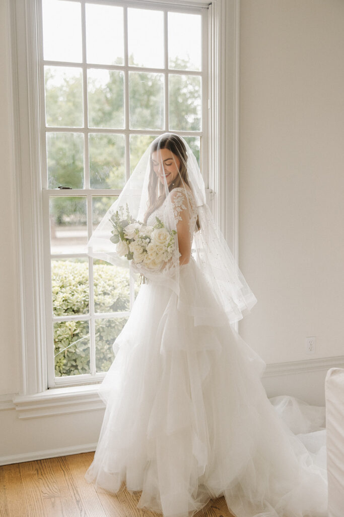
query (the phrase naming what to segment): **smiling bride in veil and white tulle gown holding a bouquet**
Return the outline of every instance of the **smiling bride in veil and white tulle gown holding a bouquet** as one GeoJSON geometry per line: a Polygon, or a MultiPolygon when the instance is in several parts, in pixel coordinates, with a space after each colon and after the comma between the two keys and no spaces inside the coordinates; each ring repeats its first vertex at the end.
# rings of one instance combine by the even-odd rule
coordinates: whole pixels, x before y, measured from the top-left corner
{"type": "Polygon", "coordinates": [[[231,325],[257,300],[181,136],[152,142],[88,254],[129,265],[143,283],[100,385],[87,481],[112,493],[125,482],[141,492],[138,508],[165,517],[191,517],[222,495],[236,517],[324,517],[325,430],[279,413],[297,399],[271,403],[265,362],[231,325]]]}

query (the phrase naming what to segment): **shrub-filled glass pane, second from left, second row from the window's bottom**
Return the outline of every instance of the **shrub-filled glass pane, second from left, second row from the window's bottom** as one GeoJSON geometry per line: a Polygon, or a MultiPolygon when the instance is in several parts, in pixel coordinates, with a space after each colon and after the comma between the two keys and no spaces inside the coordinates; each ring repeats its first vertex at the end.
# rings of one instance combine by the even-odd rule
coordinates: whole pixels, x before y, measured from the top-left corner
{"type": "Polygon", "coordinates": [[[122,312],[130,308],[129,269],[93,261],[94,311],[122,312]]]}

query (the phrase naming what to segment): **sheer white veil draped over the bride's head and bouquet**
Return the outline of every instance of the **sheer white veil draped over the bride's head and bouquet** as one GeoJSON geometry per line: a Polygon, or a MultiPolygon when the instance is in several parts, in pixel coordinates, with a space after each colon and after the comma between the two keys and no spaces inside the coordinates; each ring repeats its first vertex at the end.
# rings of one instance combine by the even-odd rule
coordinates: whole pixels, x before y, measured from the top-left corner
{"type": "Polygon", "coordinates": [[[187,142],[174,133],[158,136],[145,150],[120,196],[93,232],[86,253],[113,265],[129,267],[130,264],[130,268],[141,273],[148,282],[169,286],[177,294],[181,308],[195,317],[196,324],[204,320],[204,317],[217,320],[219,317],[226,317],[231,323],[236,322],[257,301],[206,204],[205,185],[198,162],[187,142]],[[159,181],[152,165],[152,153],[160,156],[160,149],[166,147],[179,160],[177,177],[170,185],[165,176],[159,181]],[[178,210],[183,208],[190,215],[192,260],[202,270],[205,281],[211,286],[212,294],[218,301],[217,314],[212,313],[213,303],[209,307],[199,307],[195,297],[187,298],[181,292],[179,275],[185,266],[179,266],[177,239],[172,259],[159,271],[150,268],[149,264],[129,262],[119,255],[117,245],[110,240],[110,217],[121,209],[123,213],[128,210],[135,220],[145,223],[152,223],[154,215],[158,214],[169,230],[176,231],[176,202],[179,203],[178,210]]]}

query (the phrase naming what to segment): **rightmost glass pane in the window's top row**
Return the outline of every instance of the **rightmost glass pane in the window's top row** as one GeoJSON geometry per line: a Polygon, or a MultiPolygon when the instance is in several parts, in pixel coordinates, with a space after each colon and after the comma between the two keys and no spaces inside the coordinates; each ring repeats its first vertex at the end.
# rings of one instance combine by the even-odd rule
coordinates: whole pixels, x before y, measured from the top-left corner
{"type": "Polygon", "coordinates": [[[202,70],[201,14],[168,13],[169,68],[202,70]]]}

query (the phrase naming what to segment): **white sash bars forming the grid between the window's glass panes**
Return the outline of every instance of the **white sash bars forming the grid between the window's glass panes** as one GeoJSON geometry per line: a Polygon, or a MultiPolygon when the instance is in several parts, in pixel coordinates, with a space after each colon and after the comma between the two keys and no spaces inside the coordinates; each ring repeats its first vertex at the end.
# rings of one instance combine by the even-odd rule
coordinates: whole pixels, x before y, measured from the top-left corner
{"type": "MultiPolygon", "coordinates": [[[[38,19],[40,23],[38,25],[38,30],[42,27],[42,18],[41,18],[41,8],[40,0],[37,4],[38,6],[38,19]]],[[[71,1],[71,0],[70,0],[71,1]]],[[[182,136],[199,136],[201,137],[201,156],[200,160],[202,165],[205,162],[205,157],[208,157],[208,17],[207,11],[208,6],[200,7],[193,5],[192,7],[182,5],[171,5],[168,3],[164,3],[163,5],[152,3],[151,0],[144,0],[144,2],[137,2],[137,0],[128,0],[127,2],[123,2],[122,0],[97,0],[99,4],[103,4],[107,2],[109,5],[113,4],[116,6],[124,7],[124,34],[125,39],[127,37],[127,8],[130,7],[140,7],[146,9],[156,9],[163,12],[163,23],[164,23],[164,42],[165,42],[165,67],[161,69],[149,68],[149,67],[136,67],[128,65],[128,55],[125,52],[124,63],[123,65],[95,65],[89,64],[86,60],[86,4],[93,3],[94,0],[73,0],[81,4],[81,24],[82,24],[82,33],[83,33],[83,59],[80,63],[69,63],[69,62],[53,62],[43,59],[43,37],[38,32],[39,38],[39,84],[40,84],[40,147],[41,147],[41,184],[42,184],[42,220],[43,220],[43,240],[44,240],[44,248],[43,248],[43,263],[44,263],[44,299],[45,299],[45,324],[46,324],[46,346],[47,346],[47,370],[48,370],[48,388],[57,388],[60,386],[71,386],[71,385],[80,385],[80,384],[93,384],[99,383],[105,376],[105,372],[96,372],[96,364],[95,364],[95,328],[94,328],[94,313],[92,310],[92,297],[93,297],[93,266],[92,260],[88,259],[89,262],[89,288],[90,288],[90,314],[78,314],[72,316],[61,316],[54,317],[52,315],[52,290],[51,290],[51,265],[50,260],[54,258],[58,260],[59,258],[70,258],[72,254],[59,254],[51,257],[50,255],[50,220],[48,218],[49,215],[49,202],[51,197],[84,197],[87,202],[87,216],[88,216],[88,238],[91,237],[92,230],[92,197],[93,196],[116,196],[121,193],[121,189],[92,189],[89,186],[90,174],[89,174],[89,157],[88,157],[88,134],[95,133],[107,133],[107,134],[121,134],[124,135],[125,140],[125,164],[126,164],[126,180],[129,179],[129,139],[132,134],[145,134],[145,135],[157,135],[164,133],[169,130],[169,76],[174,75],[190,75],[197,76],[201,78],[202,81],[202,124],[201,130],[199,131],[178,131],[178,134],[182,136]],[[187,12],[187,13],[195,13],[201,14],[202,16],[202,69],[201,70],[174,70],[170,69],[168,66],[168,12],[187,12]],[[44,66],[65,66],[65,67],[77,67],[83,70],[83,97],[84,97],[84,127],[82,128],[51,128],[45,126],[45,102],[44,102],[44,66]],[[109,129],[109,128],[92,128],[88,129],[87,125],[87,70],[88,69],[107,69],[107,70],[121,70],[124,75],[124,106],[125,106],[125,120],[126,124],[123,129],[109,129]],[[130,71],[143,71],[143,72],[151,72],[151,73],[159,73],[165,76],[165,94],[163,99],[164,112],[165,112],[165,127],[163,129],[158,130],[139,130],[139,129],[130,129],[129,128],[129,92],[128,92],[128,74],[130,71]],[[46,171],[46,134],[50,132],[73,132],[77,134],[83,134],[85,138],[85,188],[84,189],[73,189],[73,190],[57,190],[57,189],[49,189],[48,188],[48,175],[46,171]],[[50,258],[51,257],[51,258],[50,258]],[[55,365],[54,365],[54,344],[53,344],[53,334],[54,334],[54,323],[58,321],[88,321],[89,322],[89,333],[90,333],[90,373],[80,374],[80,375],[72,375],[72,376],[55,376],[55,365]]],[[[125,51],[127,50],[127,44],[125,41],[124,44],[125,51]]],[[[205,180],[206,186],[208,185],[208,168],[206,166],[202,166],[203,177],[205,180]]],[[[208,189],[209,191],[209,189],[208,189]]],[[[86,254],[81,255],[80,253],[75,253],[75,256],[83,256],[83,258],[88,258],[86,254]]],[[[130,279],[130,308],[134,302],[134,285],[133,278],[130,279]]],[[[131,310],[131,309],[130,309],[131,310]]],[[[117,313],[117,314],[99,314],[98,317],[127,317],[129,315],[129,311],[117,313]]]]}

